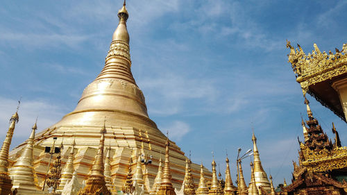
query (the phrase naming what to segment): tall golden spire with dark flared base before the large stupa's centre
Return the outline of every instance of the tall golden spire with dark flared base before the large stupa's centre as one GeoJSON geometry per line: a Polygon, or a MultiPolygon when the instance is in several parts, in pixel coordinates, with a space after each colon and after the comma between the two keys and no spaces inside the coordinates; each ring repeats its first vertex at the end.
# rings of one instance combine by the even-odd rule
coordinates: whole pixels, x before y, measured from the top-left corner
{"type": "Polygon", "coordinates": [[[105,133],[106,133],[106,127],[105,127],[105,121],[103,123],[103,128],[101,128],[101,137],[100,137],[100,143],[99,143],[99,149],[96,153],[93,166],[92,166],[92,172],[87,178],[87,182],[85,183],[85,187],[81,189],[80,192],[78,192],[78,195],[92,195],[92,194],[104,194],[104,195],[111,195],[110,190],[108,190],[108,187],[106,187],[105,182],[105,176],[103,176],[103,148],[105,146],[105,133]]]}

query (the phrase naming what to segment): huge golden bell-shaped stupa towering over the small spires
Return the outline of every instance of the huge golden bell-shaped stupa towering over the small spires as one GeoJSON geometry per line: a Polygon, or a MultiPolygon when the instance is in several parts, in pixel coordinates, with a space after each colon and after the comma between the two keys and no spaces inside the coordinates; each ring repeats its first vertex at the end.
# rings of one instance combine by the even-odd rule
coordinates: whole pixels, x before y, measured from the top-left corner
{"type": "MultiPolygon", "coordinates": [[[[152,157],[153,163],[142,164],[142,171],[146,189],[151,189],[153,185],[159,160],[165,155],[167,137],[149,118],[144,94],[131,73],[130,38],[126,28],[128,12],[125,3],[119,10],[118,17],[119,24],[113,33],[101,73],[85,87],[74,111],[35,136],[34,169],[41,187],[50,158],[49,153],[44,153],[44,147],[52,146],[53,137],[57,137],[56,144],[62,142],[65,146],[62,149],[62,167],[65,167],[69,154],[74,154],[73,167],[79,182],[82,183],[92,168],[104,123],[105,147],[110,147],[111,176],[115,188],[121,190],[130,158],[133,161],[131,166],[135,170],[139,155],[147,160],[152,157]]],[[[179,188],[185,176],[186,157],[174,142],[170,141],[169,145],[172,183],[179,188]]],[[[10,152],[10,166],[19,158],[25,146],[26,143],[20,144],[10,152]]],[[[53,155],[53,160],[55,156],[53,155]]],[[[69,166],[71,167],[71,164],[69,166]]],[[[200,165],[192,164],[192,175],[196,184],[200,171],[200,165]]],[[[204,173],[207,178],[212,177],[207,169],[204,173]]]]}

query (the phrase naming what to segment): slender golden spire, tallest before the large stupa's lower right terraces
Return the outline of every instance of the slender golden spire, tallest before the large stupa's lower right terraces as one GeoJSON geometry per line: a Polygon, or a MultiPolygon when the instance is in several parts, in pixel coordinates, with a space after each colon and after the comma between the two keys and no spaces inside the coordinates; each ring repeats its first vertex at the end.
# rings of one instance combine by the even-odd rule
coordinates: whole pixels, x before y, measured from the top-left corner
{"type": "Polygon", "coordinates": [[[162,183],[158,189],[157,195],[176,195],[174,187],[171,183],[171,173],[170,173],[170,160],[169,160],[169,133],[167,133],[167,142],[165,143],[165,162],[164,169],[162,173],[162,183]]]}

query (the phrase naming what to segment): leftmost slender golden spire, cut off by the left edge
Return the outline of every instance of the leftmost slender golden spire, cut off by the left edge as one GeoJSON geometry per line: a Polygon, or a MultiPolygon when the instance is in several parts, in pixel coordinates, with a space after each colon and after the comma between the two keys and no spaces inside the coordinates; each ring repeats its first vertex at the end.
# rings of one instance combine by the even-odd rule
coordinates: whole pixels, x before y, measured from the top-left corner
{"type": "Polygon", "coordinates": [[[16,123],[19,120],[17,112],[12,115],[10,119],[10,127],[8,128],[5,140],[3,141],[0,150],[0,195],[12,194],[12,180],[8,173],[8,166],[10,164],[10,162],[8,162],[8,151],[10,150],[13,131],[15,130],[16,123]]]}

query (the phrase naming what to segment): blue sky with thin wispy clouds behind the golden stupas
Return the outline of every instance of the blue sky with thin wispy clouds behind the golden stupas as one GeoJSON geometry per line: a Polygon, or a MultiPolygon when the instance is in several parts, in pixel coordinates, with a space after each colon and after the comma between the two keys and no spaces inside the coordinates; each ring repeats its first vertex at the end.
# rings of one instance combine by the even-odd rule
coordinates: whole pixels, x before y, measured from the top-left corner
{"type": "MultiPolygon", "coordinates": [[[[74,110],[101,71],[122,1],[4,1],[0,6],[0,125],[22,96],[12,146],[74,110]]],[[[290,183],[303,139],[303,96],[287,62],[285,40],[306,53],[346,42],[346,1],[128,1],[132,71],[149,116],[193,162],[221,171],[226,149],[251,148],[252,126],[263,167],[290,183]],[[253,125],[252,125],[253,124],[253,125]]],[[[312,97],[314,117],[347,145],[346,124],[312,97]]],[[[246,183],[249,160],[244,161],[246,183]]],[[[235,163],[232,163],[235,182],[235,163]]]]}

